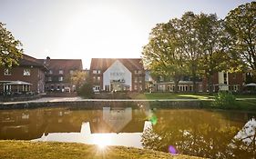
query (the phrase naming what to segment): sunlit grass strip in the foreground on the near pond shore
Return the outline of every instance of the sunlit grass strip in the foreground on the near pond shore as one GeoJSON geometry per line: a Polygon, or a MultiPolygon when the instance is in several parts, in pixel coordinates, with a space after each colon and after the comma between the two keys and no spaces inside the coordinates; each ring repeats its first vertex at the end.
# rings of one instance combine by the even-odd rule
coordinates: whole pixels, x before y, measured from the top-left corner
{"type": "Polygon", "coordinates": [[[129,148],[123,146],[109,146],[100,150],[97,145],[70,143],[43,143],[29,141],[0,140],[1,159],[123,159],[123,158],[169,158],[189,159],[200,158],[187,155],[172,155],[162,152],[129,148]]]}

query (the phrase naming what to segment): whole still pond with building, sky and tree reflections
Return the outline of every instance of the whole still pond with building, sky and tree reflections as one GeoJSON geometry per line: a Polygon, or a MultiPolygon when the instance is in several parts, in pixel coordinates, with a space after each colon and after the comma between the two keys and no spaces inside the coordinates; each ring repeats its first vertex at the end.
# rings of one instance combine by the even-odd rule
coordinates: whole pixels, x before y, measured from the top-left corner
{"type": "Polygon", "coordinates": [[[0,110],[0,139],[125,145],[210,158],[256,158],[256,113],[51,107],[0,110]]]}

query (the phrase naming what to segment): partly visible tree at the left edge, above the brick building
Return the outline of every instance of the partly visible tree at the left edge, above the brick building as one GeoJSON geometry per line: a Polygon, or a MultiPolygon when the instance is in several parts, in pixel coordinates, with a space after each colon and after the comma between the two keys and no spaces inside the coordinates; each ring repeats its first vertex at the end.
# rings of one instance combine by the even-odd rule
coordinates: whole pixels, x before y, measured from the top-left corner
{"type": "Polygon", "coordinates": [[[18,65],[23,53],[21,46],[21,42],[15,40],[12,33],[5,28],[5,24],[0,22],[0,66],[18,65]]]}

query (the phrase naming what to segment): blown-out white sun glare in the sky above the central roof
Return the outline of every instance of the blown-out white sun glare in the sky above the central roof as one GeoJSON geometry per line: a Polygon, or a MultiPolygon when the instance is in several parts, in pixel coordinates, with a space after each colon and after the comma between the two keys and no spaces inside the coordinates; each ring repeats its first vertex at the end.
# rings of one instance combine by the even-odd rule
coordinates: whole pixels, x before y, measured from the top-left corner
{"type": "Polygon", "coordinates": [[[141,41],[132,15],[114,6],[94,6],[77,12],[63,29],[58,49],[72,58],[128,58],[139,57],[141,41]]]}

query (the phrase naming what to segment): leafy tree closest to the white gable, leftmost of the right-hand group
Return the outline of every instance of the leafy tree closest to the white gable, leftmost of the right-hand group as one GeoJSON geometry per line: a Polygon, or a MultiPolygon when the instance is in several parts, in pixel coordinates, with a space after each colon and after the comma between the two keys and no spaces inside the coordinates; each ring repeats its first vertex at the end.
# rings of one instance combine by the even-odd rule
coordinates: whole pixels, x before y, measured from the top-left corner
{"type": "Polygon", "coordinates": [[[179,20],[173,19],[167,24],[159,24],[153,28],[148,45],[143,47],[142,52],[144,64],[153,75],[174,81],[174,92],[178,91],[179,80],[188,70],[179,48],[177,25],[179,20]]]}

